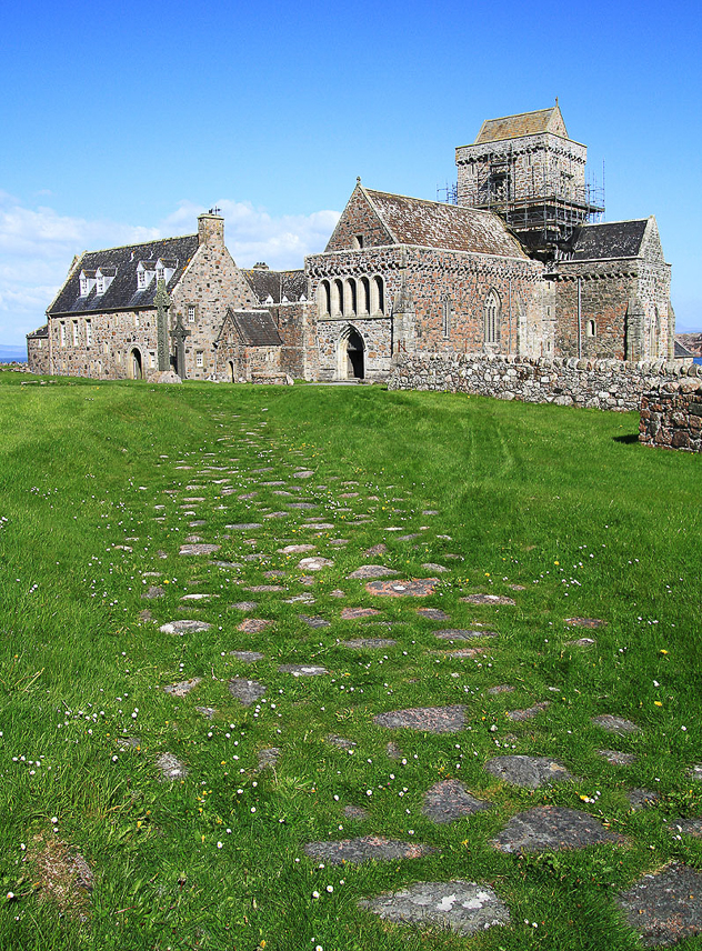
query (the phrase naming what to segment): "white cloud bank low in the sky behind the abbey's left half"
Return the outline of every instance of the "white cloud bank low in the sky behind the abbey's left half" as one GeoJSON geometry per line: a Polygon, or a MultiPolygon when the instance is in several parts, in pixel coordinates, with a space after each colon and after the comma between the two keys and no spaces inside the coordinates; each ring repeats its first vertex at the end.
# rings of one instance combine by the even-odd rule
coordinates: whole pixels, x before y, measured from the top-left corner
{"type": "MultiPolygon", "coordinates": [[[[240,267],[265,261],[271,268],[299,268],[305,254],[321,251],[339,212],[275,218],[245,201],[219,202],[225,219],[227,247],[240,267]]],[[[74,254],[156,238],[193,233],[205,209],[190,201],[157,227],[88,220],[52,208],[28,208],[0,191],[0,343],[22,344],[44,322],[44,311],[63,283],[74,254]]]]}

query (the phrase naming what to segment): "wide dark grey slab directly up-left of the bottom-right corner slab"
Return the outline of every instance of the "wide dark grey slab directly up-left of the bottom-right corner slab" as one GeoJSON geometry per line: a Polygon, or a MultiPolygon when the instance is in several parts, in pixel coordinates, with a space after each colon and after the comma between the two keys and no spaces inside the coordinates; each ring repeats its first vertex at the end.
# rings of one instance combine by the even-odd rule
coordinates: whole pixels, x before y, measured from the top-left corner
{"type": "Polygon", "coordinates": [[[610,832],[586,812],[540,805],[513,815],[492,845],[501,852],[555,852],[622,841],[621,835],[610,832]]]}

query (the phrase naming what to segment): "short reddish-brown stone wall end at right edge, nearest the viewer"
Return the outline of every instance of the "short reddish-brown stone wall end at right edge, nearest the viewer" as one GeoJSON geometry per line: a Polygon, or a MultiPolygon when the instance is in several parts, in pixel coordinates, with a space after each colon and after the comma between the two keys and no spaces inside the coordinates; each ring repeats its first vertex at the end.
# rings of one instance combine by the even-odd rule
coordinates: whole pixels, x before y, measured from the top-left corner
{"type": "Polygon", "coordinates": [[[644,393],[639,442],[702,452],[702,380],[671,380],[644,393]]]}

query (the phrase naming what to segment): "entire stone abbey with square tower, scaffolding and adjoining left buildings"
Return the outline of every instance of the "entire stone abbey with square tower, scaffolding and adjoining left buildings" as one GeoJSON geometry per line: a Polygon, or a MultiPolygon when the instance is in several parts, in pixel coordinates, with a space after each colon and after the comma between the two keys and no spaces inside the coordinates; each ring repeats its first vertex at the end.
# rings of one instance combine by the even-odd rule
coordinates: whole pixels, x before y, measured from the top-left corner
{"type": "Polygon", "coordinates": [[[87,251],[28,336],[30,369],[102,379],[387,379],[408,354],[666,361],[670,266],[651,216],[598,222],[558,103],[483,122],[454,201],[359,179],[322,253],[241,269],[198,233],[87,251]]]}

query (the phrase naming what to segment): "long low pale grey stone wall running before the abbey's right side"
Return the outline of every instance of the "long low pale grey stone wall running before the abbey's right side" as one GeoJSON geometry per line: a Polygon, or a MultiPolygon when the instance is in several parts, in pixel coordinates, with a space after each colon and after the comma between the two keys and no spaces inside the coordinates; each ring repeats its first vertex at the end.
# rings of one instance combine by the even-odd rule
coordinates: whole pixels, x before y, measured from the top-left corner
{"type": "Polygon", "coordinates": [[[656,392],[669,382],[696,378],[698,373],[702,377],[702,366],[681,360],[632,363],[573,357],[413,353],[398,360],[388,389],[443,390],[624,412],[638,410],[644,393],[656,392]]]}

